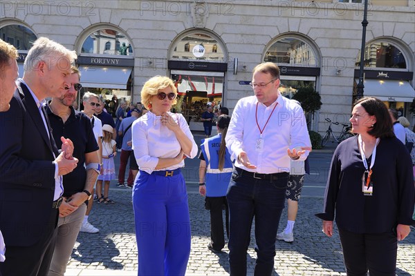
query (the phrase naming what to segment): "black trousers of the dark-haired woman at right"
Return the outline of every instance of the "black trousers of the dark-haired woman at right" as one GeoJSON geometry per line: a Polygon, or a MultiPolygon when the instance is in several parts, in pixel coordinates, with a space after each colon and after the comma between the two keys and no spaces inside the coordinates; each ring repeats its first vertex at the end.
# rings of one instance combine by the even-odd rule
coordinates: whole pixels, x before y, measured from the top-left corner
{"type": "Polygon", "coordinates": [[[398,240],[390,233],[352,233],[339,228],[347,276],[395,276],[398,240]]]}

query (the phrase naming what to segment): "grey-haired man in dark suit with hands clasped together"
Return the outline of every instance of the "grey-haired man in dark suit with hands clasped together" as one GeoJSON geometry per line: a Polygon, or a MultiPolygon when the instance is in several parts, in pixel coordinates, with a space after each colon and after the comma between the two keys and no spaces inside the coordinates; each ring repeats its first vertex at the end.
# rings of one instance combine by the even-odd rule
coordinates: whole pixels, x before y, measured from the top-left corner
{"type": "Polygon", "coordinates": [[[77,166],[71,140],[58,152],[42,101],[71,86],[75,52],[41,37],[25,60],[10,109],[0,113],[0,228],[3,275],[46,275],[56,237],[62,175],[77,166]]]}

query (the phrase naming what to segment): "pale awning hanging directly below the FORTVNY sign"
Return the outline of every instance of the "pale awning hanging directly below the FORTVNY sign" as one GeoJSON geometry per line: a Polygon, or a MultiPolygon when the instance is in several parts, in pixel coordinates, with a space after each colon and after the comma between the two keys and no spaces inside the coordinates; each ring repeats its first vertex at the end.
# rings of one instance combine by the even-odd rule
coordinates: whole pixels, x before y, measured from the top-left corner
{"type": "Polygon", "coordinates": [[[80,66],[81,84],[91,88],[127,89],[131,68],[80,66]]]}

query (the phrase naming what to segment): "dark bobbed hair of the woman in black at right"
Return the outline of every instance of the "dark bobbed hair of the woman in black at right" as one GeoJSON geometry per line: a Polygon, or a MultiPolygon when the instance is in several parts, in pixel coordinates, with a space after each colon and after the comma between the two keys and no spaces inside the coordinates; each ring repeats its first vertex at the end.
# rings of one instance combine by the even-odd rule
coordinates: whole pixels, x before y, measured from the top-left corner
{"type": "Polygon", "coordinates": [[[385,106],[385,103],[376,99],[375,97],[363,97],[355,102],[353,105],[356,106],[360,103],[360,106],[365,108],[367,114],[375,116],[376,123],[367,133],[376,138],[391,138],[395,137],[394,125],[392,124],[389,111],[385,106]]]}

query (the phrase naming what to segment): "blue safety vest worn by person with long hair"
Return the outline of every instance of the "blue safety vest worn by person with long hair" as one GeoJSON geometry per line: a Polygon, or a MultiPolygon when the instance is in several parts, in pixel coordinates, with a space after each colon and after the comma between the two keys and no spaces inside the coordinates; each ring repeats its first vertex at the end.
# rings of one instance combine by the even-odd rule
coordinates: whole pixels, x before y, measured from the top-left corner
{"type": "Polygon", "coordinates": [[[219,170],[219,148],[222,136],[216,135],[208,139],[202,139],[201,150],[206,161],[206,196],[224,197],[228,190],[230,177],[232,176],[232,161],[228,148],[225,152],[225,164],[223,170],[219,170]]]}

